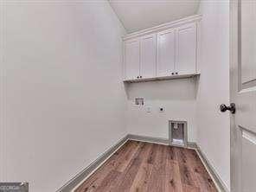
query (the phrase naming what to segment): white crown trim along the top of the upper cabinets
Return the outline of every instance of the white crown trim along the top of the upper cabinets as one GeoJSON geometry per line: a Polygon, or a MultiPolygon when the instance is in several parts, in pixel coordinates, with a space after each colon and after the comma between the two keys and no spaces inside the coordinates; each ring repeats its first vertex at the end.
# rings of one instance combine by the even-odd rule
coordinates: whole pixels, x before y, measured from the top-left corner
{"type": "Polygon", "coordinates": [[[166,22],[161,25],[157,25],[156,27],[152,27],[150,29],[144,29],[140,30],[128,35],[123,36],[123,41],[136,38],[143,35],[150,35],[152,33],[156,33],[158,31],[164,30],[164,29],[170,29],[170,28],[176,28],[183,24],[190,23],[190,22],[199,22],[202,20],[202,15],[194,15],[194,16],[187,16],[182,19],[176,20],[174,22],[166,22]]]}

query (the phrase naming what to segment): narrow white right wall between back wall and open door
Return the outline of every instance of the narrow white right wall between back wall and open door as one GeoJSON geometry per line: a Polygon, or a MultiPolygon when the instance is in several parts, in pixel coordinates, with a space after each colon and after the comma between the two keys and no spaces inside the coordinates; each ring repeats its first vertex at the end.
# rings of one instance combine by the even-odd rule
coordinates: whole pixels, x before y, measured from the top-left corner
{"type": "Polygon", "coordinates": [[[197,93],[197,143],[229,189],[229,2],[202,0],[201,77],[197,93]]]}

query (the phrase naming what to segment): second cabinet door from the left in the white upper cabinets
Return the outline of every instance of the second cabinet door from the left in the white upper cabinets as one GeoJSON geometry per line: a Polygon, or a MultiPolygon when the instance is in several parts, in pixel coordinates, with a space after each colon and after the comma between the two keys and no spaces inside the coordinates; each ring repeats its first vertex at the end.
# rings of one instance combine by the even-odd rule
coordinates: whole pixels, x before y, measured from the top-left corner
{"type": "Polygon", "coordinates": [[[140,39],[140,75],[142,78],[156,77],[157,60],[156,35],[146,35],[140,39]]]}

